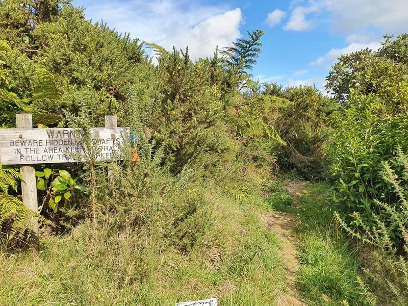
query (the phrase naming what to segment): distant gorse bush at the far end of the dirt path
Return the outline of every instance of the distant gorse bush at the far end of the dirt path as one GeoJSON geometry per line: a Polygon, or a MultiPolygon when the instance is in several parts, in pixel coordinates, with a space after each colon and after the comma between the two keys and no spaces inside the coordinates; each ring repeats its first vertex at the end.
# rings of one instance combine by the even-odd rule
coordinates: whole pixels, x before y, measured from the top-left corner
{"type": "Polygon", "coordinates": [[[286,143],[274,148],[277,165],[310,181],[324,179],[329,164],[324,143],[337,102],[314,86],[283,89],[266,84],[262,95],[264,120],[286,143]]]}

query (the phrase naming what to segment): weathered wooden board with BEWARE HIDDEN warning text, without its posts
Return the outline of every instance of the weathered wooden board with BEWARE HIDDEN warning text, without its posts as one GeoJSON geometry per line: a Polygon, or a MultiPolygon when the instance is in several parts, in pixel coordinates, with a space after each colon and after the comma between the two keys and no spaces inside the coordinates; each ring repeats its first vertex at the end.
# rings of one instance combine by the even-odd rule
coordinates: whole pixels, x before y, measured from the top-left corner
{"type": "MultiPolygon", "coordinates": [[[[80,129],[0,129],[0,163],[28,165],[70,163],[88,157],[80,129]],[[82,156],[82,158],[81,158],[82,156]]],[[[90,136],[95,160],[120,158],[126,127],[94,127],[90,136]]]]}

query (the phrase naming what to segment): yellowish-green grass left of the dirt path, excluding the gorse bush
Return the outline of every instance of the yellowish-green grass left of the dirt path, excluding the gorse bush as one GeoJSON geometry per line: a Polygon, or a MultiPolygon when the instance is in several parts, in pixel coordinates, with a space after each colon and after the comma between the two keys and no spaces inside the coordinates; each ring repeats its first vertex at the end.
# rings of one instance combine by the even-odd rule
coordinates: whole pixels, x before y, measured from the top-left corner
{"type": "Polygon", "coordinates": [[[172,207],[211,207],[209,214],[187,221],[210,217],[183,250],[175,237],[184,241],[185,231],[197,227],[166,227],[150,199],[141,208],[156,225],[123,225],[112,216],[99,220],[97,228],[86,221],[65,236],[44,238],[38,252],[2,254],[0,305],[174,305],[210,297],[220,305],[273,305],[286,283],[281,242],[260,222],[270,211],[267,203],[257,194],[234,199],[210,188],[201,188],[194,202],[194,188],[180,190],[183,200],[174,192],[153,195],[172,220],[179,217],[172,207]],[[186,194],[193,202],[186,202],[186,194]]]}

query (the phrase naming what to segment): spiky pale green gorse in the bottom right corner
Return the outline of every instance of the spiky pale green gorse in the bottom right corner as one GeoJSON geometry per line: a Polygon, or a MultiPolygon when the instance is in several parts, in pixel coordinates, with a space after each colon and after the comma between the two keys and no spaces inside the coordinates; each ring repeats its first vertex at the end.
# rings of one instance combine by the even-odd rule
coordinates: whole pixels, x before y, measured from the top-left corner
{"type": "Polygon", "coordinates": [[[373,292],[381,300],[402,306],[408,302],[408,156],[397,147],[395,156],[382,162],[381,167],[380,174],[390,186],[394,202],[374,199],[380,213],[372,213],[369,221],[359,213],[353,214],[357,228],[346,224],[338,213],[336,217],[350,236],[365,244],[360,257],[373,292]]]}

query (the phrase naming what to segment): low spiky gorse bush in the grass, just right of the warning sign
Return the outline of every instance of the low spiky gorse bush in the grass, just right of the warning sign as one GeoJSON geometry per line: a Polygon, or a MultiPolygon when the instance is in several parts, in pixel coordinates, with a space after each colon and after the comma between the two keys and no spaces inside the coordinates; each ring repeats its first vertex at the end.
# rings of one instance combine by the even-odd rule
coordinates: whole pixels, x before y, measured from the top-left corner
{"type": "Polygon", "coordinates": [[[150,237],[158,251],[170,246],[189,253],[210,226],[204,184],[187,166],[172,175],[162,166],[162,148],[142,144],[138,154],[140,162],[110,165],[110,180],[103,168],[96,169],[98,223],[150,237]]]}

